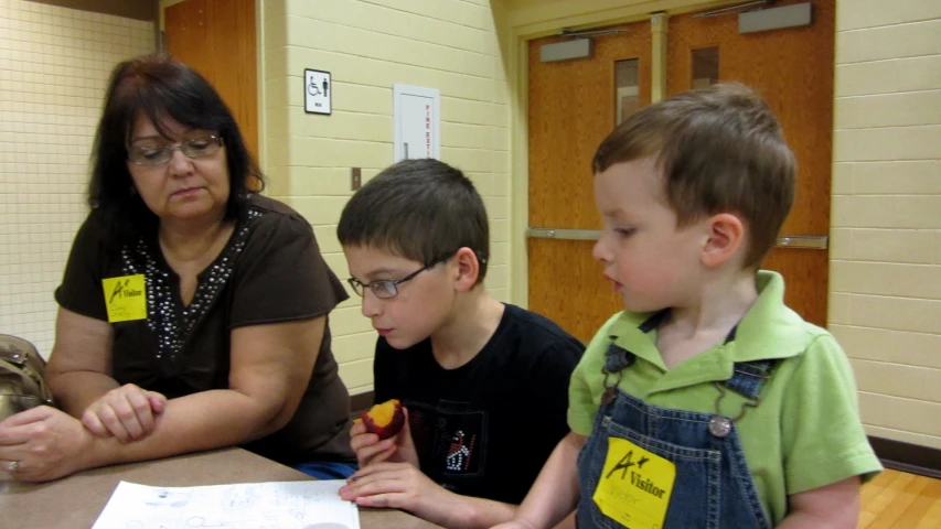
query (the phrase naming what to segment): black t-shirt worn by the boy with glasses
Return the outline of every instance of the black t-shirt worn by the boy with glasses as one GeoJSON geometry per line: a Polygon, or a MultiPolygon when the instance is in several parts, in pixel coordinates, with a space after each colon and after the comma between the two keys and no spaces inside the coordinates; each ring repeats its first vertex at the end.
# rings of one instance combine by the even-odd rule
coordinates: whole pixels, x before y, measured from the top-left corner
{"type": "Polygon", "coordinates": [[[442,368],[425,339],[376,343],[376,402],[399,399],[421,472],[464,496],[517,505],[568,433],[568,382],[585,346],[549,320],[506,305],[466,365],[442,368]]]}

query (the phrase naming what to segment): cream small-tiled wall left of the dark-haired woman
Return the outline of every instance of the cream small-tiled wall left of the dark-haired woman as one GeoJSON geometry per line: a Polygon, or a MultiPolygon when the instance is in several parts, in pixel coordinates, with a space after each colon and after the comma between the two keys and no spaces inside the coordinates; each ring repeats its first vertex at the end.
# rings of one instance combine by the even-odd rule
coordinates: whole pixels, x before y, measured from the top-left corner
{"type": "Polygon", "coordinates": [[[0,0],[0,333],[44,356],[108,74],[153,48],[150,22],[0,0]]]}

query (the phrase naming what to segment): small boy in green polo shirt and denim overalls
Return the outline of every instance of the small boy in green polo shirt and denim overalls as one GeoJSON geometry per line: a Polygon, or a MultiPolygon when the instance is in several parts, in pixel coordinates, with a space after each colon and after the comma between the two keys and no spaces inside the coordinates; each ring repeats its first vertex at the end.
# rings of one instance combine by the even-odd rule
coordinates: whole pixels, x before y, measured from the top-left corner
{"type": "MultiPolygon", "coordinates": [[[[738,85],[640,110],[598,148],[594,255],[625,311],[589,344],[569,433],[514,522],[631,529],[856,527],[881,466],[846,356],[758,271],[795,163],[738,85]]],[[[820,295],[825,295],[821,292],[820,295]]]]}

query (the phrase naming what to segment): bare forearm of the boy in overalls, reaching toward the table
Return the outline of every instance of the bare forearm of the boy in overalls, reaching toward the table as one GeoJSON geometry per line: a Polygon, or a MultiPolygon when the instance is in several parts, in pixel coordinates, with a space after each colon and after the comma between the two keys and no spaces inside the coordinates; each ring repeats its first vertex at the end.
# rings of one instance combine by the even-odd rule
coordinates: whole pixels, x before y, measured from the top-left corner
{"type": "Polygon", "coordinates": [[[499,529],[548,529],[575,510],[579,498],[576,460],[586,440],[585,435],[569,432],[559,441],[516,517],[499,529]]]}

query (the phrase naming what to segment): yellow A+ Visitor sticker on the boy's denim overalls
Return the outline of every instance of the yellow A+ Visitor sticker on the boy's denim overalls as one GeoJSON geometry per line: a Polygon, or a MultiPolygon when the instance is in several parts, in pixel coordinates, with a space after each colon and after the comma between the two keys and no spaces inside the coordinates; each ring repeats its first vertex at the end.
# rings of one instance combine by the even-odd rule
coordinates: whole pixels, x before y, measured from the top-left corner
{"type": "Polygon", "coordinates": [[[661,529],[676,481],[676,465],[620,438],[608,438],[608,455],[595,505],[630,529],[661,529]]]}

